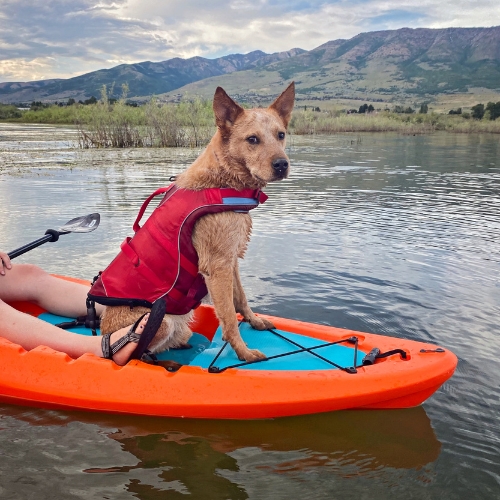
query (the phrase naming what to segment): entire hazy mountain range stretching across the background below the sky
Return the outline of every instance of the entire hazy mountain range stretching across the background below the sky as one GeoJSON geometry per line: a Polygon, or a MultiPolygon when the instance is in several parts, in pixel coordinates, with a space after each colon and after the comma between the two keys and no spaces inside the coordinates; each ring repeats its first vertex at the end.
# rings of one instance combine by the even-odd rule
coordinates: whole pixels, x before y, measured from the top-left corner
{"type": "Polygon", "coordinates": [[[175,101],[210,97],[217,85],[247,102],[269,100],[295,80],[299,100],[370,99],[394,102],[440,94],[500,92],[500,26],[402,28],[361,33],[313,50],[254,51],[217,59],[174,58],[122,64],[68,79],[0,83],[0,102],[85,100],[102,85],[118,96],[175,101]]]}

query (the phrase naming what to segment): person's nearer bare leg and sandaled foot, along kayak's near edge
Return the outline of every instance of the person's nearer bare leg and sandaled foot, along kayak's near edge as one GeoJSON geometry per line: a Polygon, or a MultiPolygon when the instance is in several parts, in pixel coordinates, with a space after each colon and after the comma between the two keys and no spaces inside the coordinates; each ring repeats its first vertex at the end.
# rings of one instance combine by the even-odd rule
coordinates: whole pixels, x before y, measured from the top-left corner
{"type": "MultiPolygon", "coordinates": [[[[136,329],[138,334],[141,334],[144,330],[148,317],[149,315],[146,315],[139,323],[136,329]]],[[[0,300],[0,318],[0,335],[11,342],[21,345],[26,350],[44,345],[56,351],[65,352],[72,358],[78,358],[85,353],[95,354],[100,357],[103,355],[101,336],[78,335],[62,330],[38,318],[24,314],[2,300],[0,300]]],[[[114,332],[111,335],[111,343],[123,337],[129,328],[122,328],[114,332]]],[[[119,365],[126,364],[136,347],[137,344],[135,343],[125,345],[113,356],[113,361],[119,365]]]]}

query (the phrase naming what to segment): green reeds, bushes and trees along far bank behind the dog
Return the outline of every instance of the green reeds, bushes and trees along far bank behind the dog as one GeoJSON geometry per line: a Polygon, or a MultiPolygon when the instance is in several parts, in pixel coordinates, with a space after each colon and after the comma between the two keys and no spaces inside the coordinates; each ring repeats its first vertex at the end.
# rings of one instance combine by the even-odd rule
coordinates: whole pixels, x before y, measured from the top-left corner
{"type": "MultiPolygon", "coordinates": [[[[110,99],[103,86],[101,99],[65,105],[32,103],[29,110],[0,105],[0,120],[22,123],[74,124],[82,148],[106,147],[197,147],[208,143],[215,127],[212,103],[196,98],[178,104],[162,104],[152,98],[137,106],[127,102],[127,87],[120,99],[110,99]]],[[[378,103],[380,105],[380,103],[378,103]]],[[[470,112],[462,108],[448,114],[428,112],[422,104],[376,110],[372,104],[359,109],[321,111],[317,106],[300,106],[294,111],[291,132],[297,135],[345,132],[397,132],[428,134],[500,133],[500,102],[477,104],[470,112]]]]}

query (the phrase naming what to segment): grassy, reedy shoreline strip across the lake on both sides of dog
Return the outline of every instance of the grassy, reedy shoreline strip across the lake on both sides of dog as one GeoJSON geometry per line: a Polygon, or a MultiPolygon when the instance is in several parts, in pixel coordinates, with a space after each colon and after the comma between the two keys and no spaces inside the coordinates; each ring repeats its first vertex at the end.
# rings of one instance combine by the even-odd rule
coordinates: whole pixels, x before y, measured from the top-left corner
{"type": "MultiPolygon", "coordinates": [[[[116,105],[115,105],[116,106],[116,105]]],[[[205,146],[213,135],[211,109],[203,106],[203,116],[194,126],[186,125],[190,110],[182,110],[182,115],[168,113],[158,120],[155,110],[154,122],[150,120],[151,110],[129,108],[86,106],[87,109],[61,109],[54,113],[40,111],[25,112],[26,118],[0,120],[0,124],[19,126],[70,127],[75,130],[78,147],[81,149],[98,148],[151,148],[151,147],[200,147],[205,146]],[[127,109],[128,108],[128,109],[127,109]],[[69,113],[72,111],[72,113],[69,113]],[[148,113],[149,111],[149,113],[148,113]],[[76,115],[75,112],[81,114],[76,115]],[[98,119],[95,120],[95,115],[98,119]],[[55,119],[57,118],[57,119],[55,119]],[[119,118],[119,119],[117,119],[119,118]],[[182,119],[183,118],[183,119],[182,119]],[[36,119],[36,120],[35,120],[36,119]],[[160,122],[160,123],[158,123],[160,122]],[[127,134],[124,134],[124,131],[127,134]],[[165,137],[165,131],[168,137],[165,137]],[[123,137],[131,139],[124,140],[123,137]],[[133,140],[132,140],[133,139],[133,140]]],[[[50,109],[50,108],[49,108],[50,109]]],[[[161,110],[161,108],[157,108],[161,110]]],[[[462,116],[438,113],[397,114],[393,112],[374,112],[366,114],[346,114],[341,112],[317,112],[312,110],[294,111],[290,135],[314,136],[359,133],[396,133],[398,135],[433,135],[438,132],[447,134],[500,134],[500,119],[475,120],[462,116]]]]}

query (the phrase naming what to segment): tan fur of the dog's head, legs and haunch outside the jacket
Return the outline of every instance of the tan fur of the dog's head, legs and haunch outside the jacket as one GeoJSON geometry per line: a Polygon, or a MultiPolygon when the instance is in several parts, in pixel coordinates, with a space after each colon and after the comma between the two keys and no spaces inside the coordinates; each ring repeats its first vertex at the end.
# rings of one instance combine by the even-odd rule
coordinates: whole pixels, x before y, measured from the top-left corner
{"type": "MultiPolygon", "coordinates": [[[[287,177],[285,132],[294,98],[292,83],[268,108],[243,109],[218,87],[213,101],[217,132],[197,160],[177,177],[176,184],[192,190],[258,189],[287,177]]],[[[235,313],[239,312],[257,330],[273,327],[252,312],[240,281],[238,257],[245,255],[251,230],[250,215],[222,212],[200,218],[192,237],[199,272],[205,278],[223,338],[229,341],[238,357],[246,361],[265,358],[265,355],[245,345],[235,313]]],[[[144,312],[147,309],[142,307],[107,307],[101,317],[101,332],[105,334],[130,325],[144,312]]],[[[191,317],[192,311],[183,316],[166,315],[150,350],[159,352],[185,345],[191,337],[188,325],[191,317]]]]}

